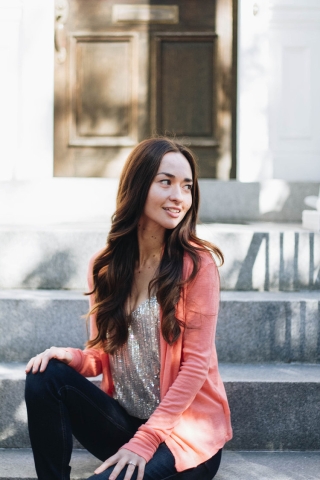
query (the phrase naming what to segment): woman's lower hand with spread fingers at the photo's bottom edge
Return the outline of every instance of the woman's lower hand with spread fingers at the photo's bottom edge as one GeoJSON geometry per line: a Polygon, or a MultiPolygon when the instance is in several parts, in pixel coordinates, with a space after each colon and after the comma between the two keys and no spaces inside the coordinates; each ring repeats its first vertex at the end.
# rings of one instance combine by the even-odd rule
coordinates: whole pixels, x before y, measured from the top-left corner
{"type": "Polygon", "coordinates": [[[121,450],[119,450],[115,455],[112,455],[112,457],[108,458],[99,468],[94,471],[94,473],[101,473],[115,464],[116,466],[109,476],[109,480],[116,480],[117,476],[126,465],[128,465],[128,467],[124,480],[130,480],[136,467],[138,468],[137,480],[143,480],[144,469],[146,466],[145,459],[140,457],[140,455],[127,450],[126,448],[121,448],[121,450]]]}

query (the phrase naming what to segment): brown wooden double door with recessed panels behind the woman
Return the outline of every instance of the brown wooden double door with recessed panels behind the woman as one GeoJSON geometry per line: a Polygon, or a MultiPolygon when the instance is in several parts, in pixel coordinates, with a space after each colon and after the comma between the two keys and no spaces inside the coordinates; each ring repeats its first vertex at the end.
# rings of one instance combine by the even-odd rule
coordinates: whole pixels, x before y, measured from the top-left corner
{"type": "MultiPolygon", "coordinates": [[[[56,0],[55,175],[117,177],[150,135],[232,171],[233,0],[56,0]]],[[[231,174],[232,176],[232,174],[231,174]]]]}

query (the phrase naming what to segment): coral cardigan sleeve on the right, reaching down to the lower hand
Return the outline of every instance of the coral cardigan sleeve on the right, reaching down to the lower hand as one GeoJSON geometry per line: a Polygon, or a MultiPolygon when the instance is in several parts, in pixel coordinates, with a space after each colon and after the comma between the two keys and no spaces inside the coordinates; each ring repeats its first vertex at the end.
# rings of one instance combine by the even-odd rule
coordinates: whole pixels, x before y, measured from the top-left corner
{"type": "Polygon", "coordinates": [[[219,290],[219,275],[212,260],[200,268],[187,287],[179,373],[149,420],[122,447],[147,462],[178,424],[207,378],[214,349],[219,290]]]}

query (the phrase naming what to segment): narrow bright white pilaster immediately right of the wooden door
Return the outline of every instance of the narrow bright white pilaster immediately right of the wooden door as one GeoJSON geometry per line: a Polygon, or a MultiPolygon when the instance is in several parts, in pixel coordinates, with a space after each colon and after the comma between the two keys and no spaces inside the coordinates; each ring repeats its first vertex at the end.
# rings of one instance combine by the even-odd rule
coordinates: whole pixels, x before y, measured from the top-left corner
{"type": "Polygon", "coordinates": [[[237,179],[272,178],[269,150],[269,0],[239,0],[237,179]]]}

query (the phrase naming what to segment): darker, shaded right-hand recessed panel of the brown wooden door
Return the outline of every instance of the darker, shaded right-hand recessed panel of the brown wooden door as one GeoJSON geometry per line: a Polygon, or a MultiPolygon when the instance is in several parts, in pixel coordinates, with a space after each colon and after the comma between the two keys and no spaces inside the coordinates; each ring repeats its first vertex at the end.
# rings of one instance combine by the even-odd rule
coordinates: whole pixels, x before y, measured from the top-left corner
{"type": "Polygon", "coordinates": [[[215,36],[155,36],[154,128],[216,145],[215,36]]]}

